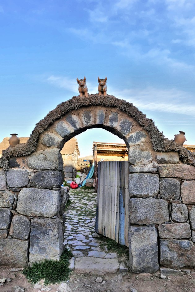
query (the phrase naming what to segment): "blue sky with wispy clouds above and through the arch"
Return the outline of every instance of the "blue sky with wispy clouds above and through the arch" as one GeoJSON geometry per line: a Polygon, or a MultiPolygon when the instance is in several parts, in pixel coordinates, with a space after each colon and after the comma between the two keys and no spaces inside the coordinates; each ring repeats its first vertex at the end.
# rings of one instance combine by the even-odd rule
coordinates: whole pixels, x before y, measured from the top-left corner
{"type": "MultiPolygon", "coordinates": [[[[132,102],[167,138],[183,130],[195,144],[194,11],[193,0],[0,0],[0,141],[29,136],[77,95],[76,77],[96,93],[107,76],[108,94],[132,102]]],[[[119,141],[101,129],[82,135],[83,155],[93,140],[119,141]]]]}

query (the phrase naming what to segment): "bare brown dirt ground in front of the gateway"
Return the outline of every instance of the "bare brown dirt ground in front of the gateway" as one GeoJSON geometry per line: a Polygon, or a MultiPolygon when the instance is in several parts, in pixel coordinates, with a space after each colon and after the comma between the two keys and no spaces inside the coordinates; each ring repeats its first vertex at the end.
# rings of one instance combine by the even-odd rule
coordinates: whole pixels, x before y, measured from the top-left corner
{"type": "MultiPolygon", "coordinates": [[[[34,285],[29,283],[21,272],[11,272],[6,267],[0,268],[0,279],[3,277],[14,277],[13,274],[15,275],[15,279],[11,279],[11,282],[4,283],[3,286],[0,286],[1,292],[14,292],[14,286],[23,288],[25,292],[38,292],[46,287],[51,288],[50,292],[58,291],[59,284],[44,286],[43,281],[41,288],[34,289],[34,285]]],[[[192,276],[187,274],[170,276],[170,279],[167,278],[165,280],[155,277],[152,274],[116,273],[103,276],[103,280],[106,281],[104,284],[97,283],[95,281],[97,277],[98,275],[75,274],[72,272],[70,280],[67,283],[72,292],[131,292],[132,288],[136,289],[137,292],[195,292],[195,272],[193,272],[192,276]]]]}

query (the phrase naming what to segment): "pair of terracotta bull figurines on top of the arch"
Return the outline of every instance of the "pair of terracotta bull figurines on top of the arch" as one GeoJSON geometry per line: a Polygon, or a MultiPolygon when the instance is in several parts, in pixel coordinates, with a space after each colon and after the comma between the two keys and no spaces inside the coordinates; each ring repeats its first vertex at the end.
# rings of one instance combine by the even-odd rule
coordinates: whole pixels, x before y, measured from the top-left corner
{"type": "MultiPolygon", "coordinates": [[[[98,94],[99,95],[104,95],[106,96],[106,91],[107,91],[107,86],[106,86],[106,80],[107,80],[107,77],[105,79],[100,79],[98,77],[98,94]]],[[[76,78],[76,81],[77,83],[79,84],[79,93],[80,93],[80,97],[88,97],[88,88],[87,88],[87,85],[86,85],[86,78],[84,77],[84,79],[78,79],[76,78]]]]}

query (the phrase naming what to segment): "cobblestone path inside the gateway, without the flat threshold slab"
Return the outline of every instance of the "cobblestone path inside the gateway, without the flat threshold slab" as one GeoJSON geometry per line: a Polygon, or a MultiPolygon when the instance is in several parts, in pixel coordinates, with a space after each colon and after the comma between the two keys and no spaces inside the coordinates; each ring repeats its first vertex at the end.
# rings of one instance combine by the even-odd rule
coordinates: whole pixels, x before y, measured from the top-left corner
{"type": "MultiPolygon", "coordinates": [[[[95,232],[97,194],[93,189],[70,189],[71,205],[66,211],[66,230],[64,244],[70,248],[75,257],[84,256],[82,251],[89,250],[99,243],[93,243],[95,232]]],[[[85,253],[86,255],[86,253],[85,253]]]]}

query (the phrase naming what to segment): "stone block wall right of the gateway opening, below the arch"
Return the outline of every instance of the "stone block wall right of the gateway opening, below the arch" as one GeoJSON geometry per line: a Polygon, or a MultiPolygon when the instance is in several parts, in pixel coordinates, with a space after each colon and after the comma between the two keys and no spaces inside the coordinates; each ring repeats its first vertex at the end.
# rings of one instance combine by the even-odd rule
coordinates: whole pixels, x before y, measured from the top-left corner
{"type": "MultiPolygon", "coordinates": [[[[129,175],[129,260],[134,273],[162,273],[195,266],[195,167],[175,152],[131,155],[129,175]],[[138,157],[138,158],[137,158],[138,157]]],[[[179,273],[179,271],[178,271],[179,273]]]]}

